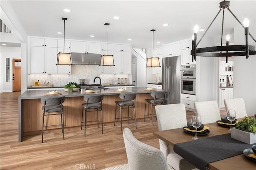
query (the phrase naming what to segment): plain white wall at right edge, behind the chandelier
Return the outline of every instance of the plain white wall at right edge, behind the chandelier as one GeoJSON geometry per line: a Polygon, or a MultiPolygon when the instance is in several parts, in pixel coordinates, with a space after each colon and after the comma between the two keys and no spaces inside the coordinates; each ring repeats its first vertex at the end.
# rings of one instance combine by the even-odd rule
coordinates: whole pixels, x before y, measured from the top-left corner
{"type": "MultiPolygon", "coordinates": [[[[255,23],[249,26],[249,32],[256,38],[255,23]]],[[[256,45],[248,36],[249,45],[256,45]]],[[[244,29],[234,28],[234,45],[245,45],[244,29]]],[[[234,98],[243,98],[248,116],[256,113],[256,55],[234,57],[234,98]]]]}

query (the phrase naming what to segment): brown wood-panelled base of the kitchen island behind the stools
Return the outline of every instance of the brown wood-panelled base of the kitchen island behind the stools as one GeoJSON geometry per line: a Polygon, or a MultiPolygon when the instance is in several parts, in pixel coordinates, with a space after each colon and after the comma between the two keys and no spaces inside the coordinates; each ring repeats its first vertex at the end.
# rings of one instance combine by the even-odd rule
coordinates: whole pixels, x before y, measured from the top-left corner
{"type": "MultiPolygon", "coordinates": [[[[143,88],[142,88],[143,89],[143,88]]],[[[131,90],[132,91],[132,90],[131,90]]],[[[65,94],[64,94],[65,95],[65,94]]],[[[80,126],[82,120],[82,103],[85,103],[83,95],[79,94],[74,97],[70,95],[65,95],[64,105],[64,127],[74,127],[80,126]]],[[[144,118],[144,109],[145,109],[145,99],[152,98],[150,92],[143,92],[136,94],[136,118],[144,118]]],[[[104,99],[102,101],[102,115],[103,123],[114,122],[115,119],[115,101],[120,101],[118,93],[104,94],[104,99]]],[[[19,124],[19,141],[22,141],[23,136],[41,134],[42,131],[42,106],[40,98],[31,98],[20,100],[20,118],[21,123],[19,124]]],[[[154,109],[153,109],[154,111],[154,109]]],[[[116,109],[116,118],[120,118],[120,107],[117,106],[116,109]]],[[[151,113],[151,107],[147,104],[146,114],[151,113]]],[[[98,112],[100,120],[100,111],[98,112]]],[[[122,109],[122,117],[128,117],[128,109],[122,109]]],[[[130,117],[134,118],[134,109],[130,109],[130,117]]],[[[127,120],[124,118],[123,120],[127,120]]],[[[86,124],[96,124],[97,122],[97,112],[90,111],[87,112],[86,124]]],[[[143,119],[140,119],[143,120],[143,119]]],[[[60,115],[52,115],[45,117],[45,125],[58,125],[61,124],[60,115]]],[[[133,120],[130,120],[130,123],[134,123],[133,120]]],[[[117,125],[120,124],[120,121],[116,122],[117,125]]],[[[45,126],[44,125],[44,126],[45,126]]],[[[47,127],[47,129],[56,129],[61,126],[47,127]]]]}

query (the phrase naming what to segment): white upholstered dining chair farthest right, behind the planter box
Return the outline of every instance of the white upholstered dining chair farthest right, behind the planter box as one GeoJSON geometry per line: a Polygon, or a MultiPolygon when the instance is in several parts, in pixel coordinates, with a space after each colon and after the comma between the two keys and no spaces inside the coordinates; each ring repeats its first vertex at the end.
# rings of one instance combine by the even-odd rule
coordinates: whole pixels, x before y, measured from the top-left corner
{"type": "Polygon", "coordinates": [[[224,105],[226,107],[226,111],[229,109],[236,111],[236,118],[243,118],[244,116],[247,116],[244,99],[242,98],[224,99],[224,105]]]}

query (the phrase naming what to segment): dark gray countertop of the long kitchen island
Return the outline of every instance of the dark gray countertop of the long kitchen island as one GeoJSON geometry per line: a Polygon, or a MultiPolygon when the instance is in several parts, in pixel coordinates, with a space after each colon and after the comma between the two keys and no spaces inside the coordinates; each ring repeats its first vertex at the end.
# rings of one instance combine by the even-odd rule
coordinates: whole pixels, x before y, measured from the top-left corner
{"type": "MultiPolygon", "coordinates": [[[[138,94],[142,93],[150,93],[152,91],[146,91],[146,87],[127,87],[126,90],[127,92],[135,92],[138,94]]],[[[100,93],[100,90],[95,90],[95,92],[98,92],[98,94],[104,94],[104,95],[116,95],[120,94],[122,92],[115,92],[117,88],[109,89],[109,90],[102,90],[100,93]]],[[[161,90],[161,89],[156,89],[157,91],[166,91],[166,90],[161,90]]],[[[49,90],[27,90],[24,92],[22,95],[19,96],[19,100],[24,100],[24,99],[39,99],[44,96],[44,94],[48,93],[49,90]]],[[[79,97],[83,96],[81,91],[77,92],[66,92],[64,90],[58,90],[59,93],[62,93],[65,97],[79,97]]]]}

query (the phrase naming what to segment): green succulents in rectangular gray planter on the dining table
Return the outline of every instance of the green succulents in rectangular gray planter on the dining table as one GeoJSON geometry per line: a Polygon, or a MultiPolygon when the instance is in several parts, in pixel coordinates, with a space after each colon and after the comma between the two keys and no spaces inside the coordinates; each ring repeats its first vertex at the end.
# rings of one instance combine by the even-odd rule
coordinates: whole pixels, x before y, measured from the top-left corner
{"type": "Polygon", "coordinates": [[[244,117],[232,128],[231,137],[244,143],[256,143],[256,118],[244,117]]]}

